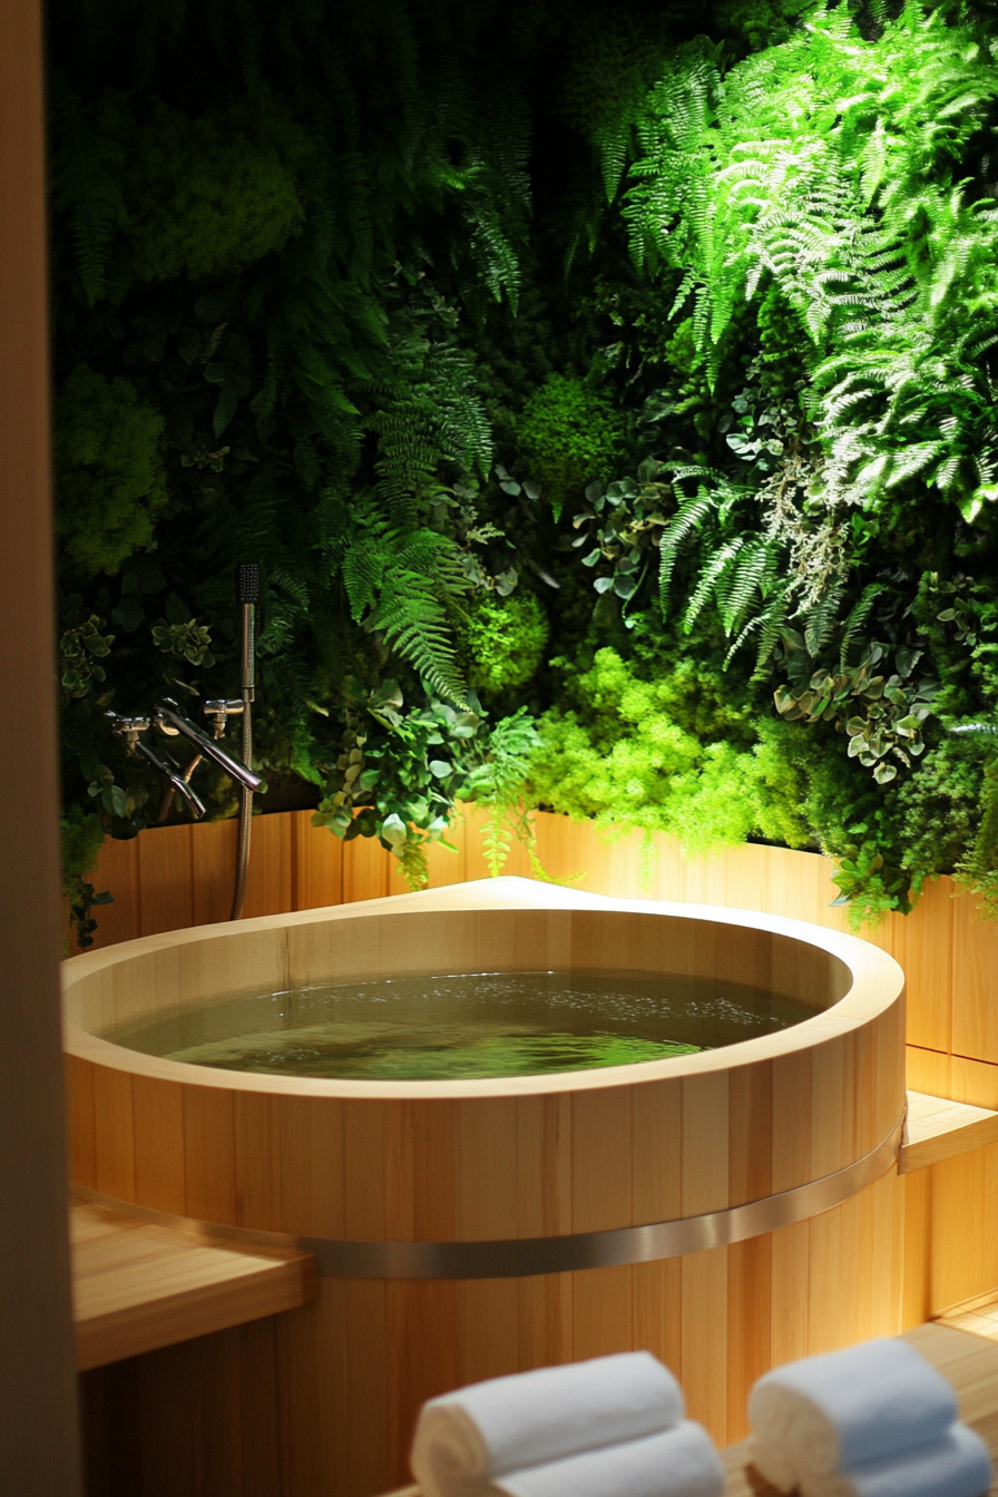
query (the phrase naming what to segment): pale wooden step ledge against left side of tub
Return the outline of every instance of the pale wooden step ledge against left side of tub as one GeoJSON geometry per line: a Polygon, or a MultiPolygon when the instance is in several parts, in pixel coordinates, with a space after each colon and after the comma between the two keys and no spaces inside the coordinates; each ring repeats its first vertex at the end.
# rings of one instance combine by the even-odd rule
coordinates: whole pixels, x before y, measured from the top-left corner
{"type": "Polygon", "coordinates": [[[319,1293],[293,1248],[190,1237],[106,1207],[70,1208],[76,1368],[296,1310],[319,1293]]]}

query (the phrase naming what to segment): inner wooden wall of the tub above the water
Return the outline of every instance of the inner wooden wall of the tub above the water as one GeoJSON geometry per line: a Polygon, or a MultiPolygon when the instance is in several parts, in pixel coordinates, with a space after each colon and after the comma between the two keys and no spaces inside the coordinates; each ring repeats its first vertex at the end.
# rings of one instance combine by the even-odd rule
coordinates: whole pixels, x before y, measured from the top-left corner
{"type": "Polygon", "coordinates": [[[215,931],[78,978],[67,1015],[91,1034],[227,994],[447,972],[667,972],[768,988],[815,1012],[851,985],[806,942],[712,921],[612,912],[455,910],[215,931]]]}

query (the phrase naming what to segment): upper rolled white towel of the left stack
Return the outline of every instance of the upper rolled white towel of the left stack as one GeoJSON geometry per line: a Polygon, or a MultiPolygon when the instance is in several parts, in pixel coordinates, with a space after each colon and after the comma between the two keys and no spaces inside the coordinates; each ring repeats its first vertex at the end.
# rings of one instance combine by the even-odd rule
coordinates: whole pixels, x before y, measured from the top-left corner
{"type": "Polygon", "coordinates": [[[685,1413],[672,1373],[649,1352],[495,1377],[423,1404],[410,1464],[425,1497],[506,1472],[673,1430],[685,1413]]]}

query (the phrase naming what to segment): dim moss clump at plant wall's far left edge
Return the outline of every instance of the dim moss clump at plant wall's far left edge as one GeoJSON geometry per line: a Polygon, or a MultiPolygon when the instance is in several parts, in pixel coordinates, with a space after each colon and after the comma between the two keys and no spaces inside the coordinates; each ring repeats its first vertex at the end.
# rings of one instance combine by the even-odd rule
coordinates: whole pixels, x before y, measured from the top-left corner
{"type": "Polygon", "coordinates": [[[154,543],[166,509],[163,416],[132,380],[85,364],[55,406],[57,533],[73,573],[111,575],[154,543]]]}

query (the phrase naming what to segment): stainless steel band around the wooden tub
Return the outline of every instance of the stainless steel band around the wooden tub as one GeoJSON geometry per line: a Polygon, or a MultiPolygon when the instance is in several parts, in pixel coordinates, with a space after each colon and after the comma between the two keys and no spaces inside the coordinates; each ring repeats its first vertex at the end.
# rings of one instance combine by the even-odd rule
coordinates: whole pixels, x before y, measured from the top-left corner
{"type": "Polygon", "coordinates": [[[319,1272],[329,1278],[527,1278],[533,1274],[564,1274],[578,1268],[612,1268],[621,1263],[651,1263],[681,1257],[708,1247],[726,1247],[745,1238],[793,1226],[841,1205],[880,1180],[898,1159],[904,1115],[890,1135],[862,1159],[832,1175],[811,1180],[762,1201],[750,1201],[703,1216],[621,1226],[606,1232],[573,1232],[567,1237],[498,1238],[489,1243],[389,1243],[331,1237],[292,1237],[250,1228],[196,1222],[135,1207],[126,1201],[78,1190],[96,1205],[142,1216],[200,1238],[220,1238],[260,1247],[299,1247],[314,1253],[319,1272]]]}

